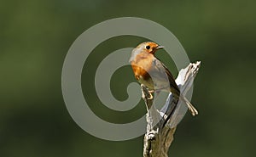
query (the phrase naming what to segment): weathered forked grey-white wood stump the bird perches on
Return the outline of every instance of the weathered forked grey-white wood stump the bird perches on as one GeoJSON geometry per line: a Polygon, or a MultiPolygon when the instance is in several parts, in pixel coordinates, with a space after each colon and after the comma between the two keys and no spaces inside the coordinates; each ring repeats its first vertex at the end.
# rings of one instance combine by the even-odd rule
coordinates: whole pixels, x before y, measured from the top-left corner
{"type": "MultiPolygon", "coordinates": [[[[192,87],[195,76],[200,68],[201,62],[189,64],[185,69],[180,70],[176,79],[177,86],[185,95],[192,87]]],[[[154,97],[148,92],[147,87],[142,87],[143,100],[146,104],[147,132],[144,135],[144,157],[168,157],[168,150],[173,141],[173,134],[177,123],[181,121],[184,113],[179,115],[180,102],[169,94],[166,104],[160,111],[155,109],[154,97]]]]}

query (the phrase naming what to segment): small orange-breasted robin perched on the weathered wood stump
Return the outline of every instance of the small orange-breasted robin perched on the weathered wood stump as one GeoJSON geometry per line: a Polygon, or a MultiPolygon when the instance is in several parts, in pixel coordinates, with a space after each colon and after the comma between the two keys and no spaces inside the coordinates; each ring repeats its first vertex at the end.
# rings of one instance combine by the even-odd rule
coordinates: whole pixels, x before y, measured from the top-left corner
{"type": "Polygon", "coordinates": [[[154,91],[172,93],[174,98],[183,100],[187,104],[192,115],[198,115],[193,104],[180,93],[171,71],[154,55],[161,48],[164,47],[155,42],[143,42],[132,50],[129,62],[135,78],[148,87],[149,93],[154,91]]]}

